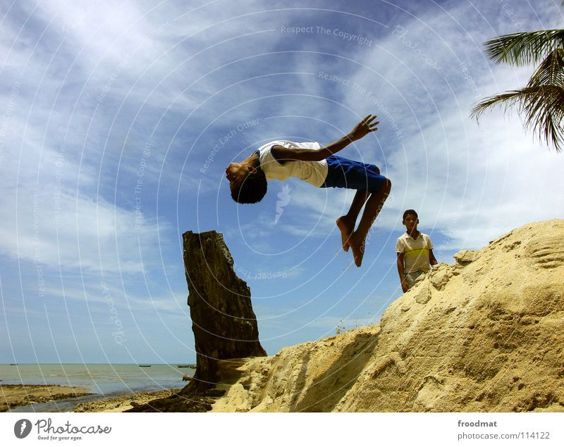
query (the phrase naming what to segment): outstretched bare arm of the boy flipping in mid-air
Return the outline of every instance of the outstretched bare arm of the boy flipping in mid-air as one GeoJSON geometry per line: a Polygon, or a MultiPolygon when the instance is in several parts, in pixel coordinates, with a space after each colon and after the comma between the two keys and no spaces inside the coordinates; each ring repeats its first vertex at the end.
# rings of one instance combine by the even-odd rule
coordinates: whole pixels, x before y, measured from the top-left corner
{"type": "Polygon", "coordinates": [[[348,146],[353,141],[365,137],[370,132],[376,132],[379,121],[374,121],[376,115],[368,115],[364,120],[359,122],[355,128],[345,137],[333,141],[329,146],[322,147],[320,149],[288,149],[284,146],[273,146],[272,155],[276,160],[283,163],[285,161],[301,160],[301,161],[321,161],[325,158],[337,153],[348,146]]]}

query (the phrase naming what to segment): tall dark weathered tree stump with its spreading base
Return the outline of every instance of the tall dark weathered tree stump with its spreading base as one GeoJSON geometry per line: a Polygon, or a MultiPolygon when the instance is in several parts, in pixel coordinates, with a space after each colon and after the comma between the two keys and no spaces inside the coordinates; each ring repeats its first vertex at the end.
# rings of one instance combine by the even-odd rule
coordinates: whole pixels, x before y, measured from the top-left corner
{"type": "Polygon", "coordinates": [[[184,265],[196,348],[196,372],[178,394],[129,412],[207,411],[223,391],[215,389],[219,361],[266,355],[247,283],[233,270],[221,233],[185,232],[184,265]]]}

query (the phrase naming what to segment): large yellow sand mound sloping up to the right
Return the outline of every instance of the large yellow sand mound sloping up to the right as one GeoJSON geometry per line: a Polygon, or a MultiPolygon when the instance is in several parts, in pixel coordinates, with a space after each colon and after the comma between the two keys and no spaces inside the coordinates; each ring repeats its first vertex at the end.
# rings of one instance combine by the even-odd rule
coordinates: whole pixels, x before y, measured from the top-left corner
{"type": "Polygon", "coordinates": [[[223,361],[214,411],[564,411],[564,220],[455,260],[380,325],[223,361]]]}

